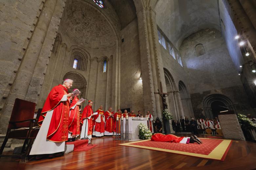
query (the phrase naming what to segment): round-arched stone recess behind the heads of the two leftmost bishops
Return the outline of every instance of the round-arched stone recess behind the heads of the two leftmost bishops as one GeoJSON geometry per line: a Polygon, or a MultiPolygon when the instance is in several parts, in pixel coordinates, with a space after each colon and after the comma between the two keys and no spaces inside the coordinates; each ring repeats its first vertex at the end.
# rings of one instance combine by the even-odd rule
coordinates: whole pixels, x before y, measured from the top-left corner
{"type": "MultiPolygon", "coordinates": [[[[81,92],[79,98],[85,98],[87,82],[84,76],[76,72],[68,72],[64,75],[63,80],[65,80],[66,78],[73,80],[72,88],[69,91],[72,92],[73,89],[79,89],[79,91],[81,92]]],[[[82,104],[82,108],[85,107],[85,103],[86,102],[82,104]]]]}

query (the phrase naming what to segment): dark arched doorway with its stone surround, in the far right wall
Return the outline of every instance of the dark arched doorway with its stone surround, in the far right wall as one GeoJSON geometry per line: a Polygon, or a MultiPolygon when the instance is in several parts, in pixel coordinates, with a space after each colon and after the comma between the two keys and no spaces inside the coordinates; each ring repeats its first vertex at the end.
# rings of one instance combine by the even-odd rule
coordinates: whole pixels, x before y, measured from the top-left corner
{"type": "Polygon", "coordinates": [[[203,99],[203,111],[205,117],[213,119],[220,111],[227,109],[236,112],[233,102],[223,94],[210,94],[203,99]]]}

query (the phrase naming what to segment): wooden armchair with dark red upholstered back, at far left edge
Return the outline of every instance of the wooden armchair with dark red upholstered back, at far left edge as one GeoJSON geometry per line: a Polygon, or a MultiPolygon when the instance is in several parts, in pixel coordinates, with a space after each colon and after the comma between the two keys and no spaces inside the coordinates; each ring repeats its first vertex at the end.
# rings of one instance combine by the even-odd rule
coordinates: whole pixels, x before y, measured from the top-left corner
{"type": "Polygon", "coordinates": [[[35,139],[38,129],[33,129],[33,124],[36,119],[33,119],[35,112],[35,103],[22,99],[15,99],[11,118],[4,142],[0,149],[0,157],[21,157],[20,162],[26,162],[29,155],[33,139],[35,139]],[[4,147],[8,139],[24,139],[21,155],[2,155],[4,147]],[[28,144],[26,150],[26,144],[28,144]]]}

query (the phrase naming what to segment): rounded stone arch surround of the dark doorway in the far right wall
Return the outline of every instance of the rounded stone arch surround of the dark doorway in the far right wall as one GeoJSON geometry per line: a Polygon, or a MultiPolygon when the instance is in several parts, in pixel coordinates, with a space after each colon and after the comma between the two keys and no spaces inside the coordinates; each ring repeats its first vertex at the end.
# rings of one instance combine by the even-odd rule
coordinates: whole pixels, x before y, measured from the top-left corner
{"type": "Polygon", "coordinates": [[[234,110],[236,112],[233,102],[227,96],[216,93],[207,95],[203,99],[203,110],[205,117],[209,117],[210,119],[213,118],[211,104],[215,101],[222,102],[229,110],[234,110]]]}

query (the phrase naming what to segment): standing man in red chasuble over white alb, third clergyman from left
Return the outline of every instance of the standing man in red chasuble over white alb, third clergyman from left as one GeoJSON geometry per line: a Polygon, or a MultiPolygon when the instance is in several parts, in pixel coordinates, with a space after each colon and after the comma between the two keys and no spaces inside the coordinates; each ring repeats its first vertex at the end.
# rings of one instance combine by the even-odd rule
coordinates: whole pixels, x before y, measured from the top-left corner
{"type": "MultiPolygon", "coordinates": [[[[93,101],[89,100],[85,106],[80,122],[82,124],[80,139],[89,138],[91,140],[93,134],[93,101]]],[[[90,141],[89,141],[90,143],[90,141]]]]}

